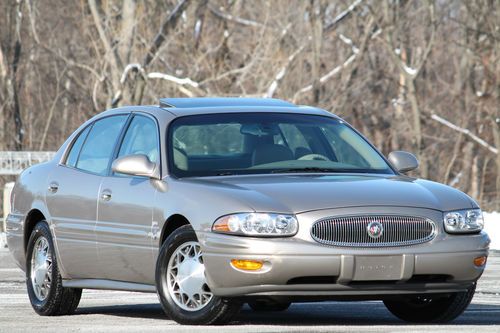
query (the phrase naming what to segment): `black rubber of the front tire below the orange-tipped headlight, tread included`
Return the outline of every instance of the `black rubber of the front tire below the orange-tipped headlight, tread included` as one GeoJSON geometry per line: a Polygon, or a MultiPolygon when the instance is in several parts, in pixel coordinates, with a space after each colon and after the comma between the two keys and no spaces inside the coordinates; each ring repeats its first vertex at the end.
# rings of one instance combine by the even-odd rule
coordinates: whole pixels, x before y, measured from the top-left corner
{"type": "Polygon", "coordinates": [[[200,310],[188,311],[181,308],[168,290],[167,269],[170,257],[183,244],[198,242],[190,225],[176,229],[163,243],[156,263],[156,289],[161,306],[170,319],[185,325],[225,324],[240,311],[241,302],[231,298],[213,295],[200,310]]]}

